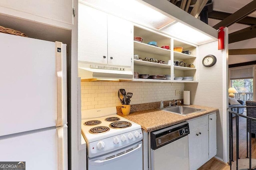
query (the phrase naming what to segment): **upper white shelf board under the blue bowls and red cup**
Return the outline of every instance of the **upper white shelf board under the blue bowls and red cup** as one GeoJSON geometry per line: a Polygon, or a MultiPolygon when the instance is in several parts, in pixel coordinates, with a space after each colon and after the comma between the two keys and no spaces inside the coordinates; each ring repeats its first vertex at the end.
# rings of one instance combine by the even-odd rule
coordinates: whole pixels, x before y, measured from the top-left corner
{"type": "Polygon", "coordinates": [[[151,54],[156,54],[156,55],[162,55],[165,57],[169,57],[170,58],[170,50],[167,49],[163,49],[160,47],[155,47],[153,45],[148,45],[145,43],[140,43],[138,41],[134,41],[134,50],[137,51],[143,51],[146,53],[151,53],[151,54]]]}

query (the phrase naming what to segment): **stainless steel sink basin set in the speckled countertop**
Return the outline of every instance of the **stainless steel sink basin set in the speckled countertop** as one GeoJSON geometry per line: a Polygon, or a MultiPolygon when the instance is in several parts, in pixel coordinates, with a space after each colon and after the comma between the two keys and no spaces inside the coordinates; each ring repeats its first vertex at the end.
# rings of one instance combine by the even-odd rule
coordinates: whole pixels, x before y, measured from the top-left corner
{"type": "Polygon", "coordinates": [[[187,106],[174,106],[174,107],[163,108],[162,110],[169,111],[172,113],[178,113],[181,115],[190,115],[200,111],[205,111],[204,109],[196,109],[196,108],[187,107],[187,106]]]}

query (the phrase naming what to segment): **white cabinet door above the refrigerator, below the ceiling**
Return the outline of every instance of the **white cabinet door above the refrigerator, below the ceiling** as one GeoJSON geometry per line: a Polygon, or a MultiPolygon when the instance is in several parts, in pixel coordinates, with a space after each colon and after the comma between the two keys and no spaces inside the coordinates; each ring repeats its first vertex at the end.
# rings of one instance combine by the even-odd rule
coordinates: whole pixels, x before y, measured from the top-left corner
{"type": "Polygon", "coordinates": [[[0,6],[73,25],[72,0],[1,0],[0,6]]]}

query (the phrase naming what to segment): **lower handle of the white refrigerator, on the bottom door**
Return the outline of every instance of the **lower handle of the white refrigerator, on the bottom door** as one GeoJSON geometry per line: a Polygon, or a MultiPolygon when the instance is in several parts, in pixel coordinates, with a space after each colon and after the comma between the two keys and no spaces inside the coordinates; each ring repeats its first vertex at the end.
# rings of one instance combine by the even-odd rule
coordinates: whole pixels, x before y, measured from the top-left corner
{"type": "Polygon", "coordinates": [[[58,170],[64,169],[64,130],[63,127],[56,127],[58,133],[58,170]]]}

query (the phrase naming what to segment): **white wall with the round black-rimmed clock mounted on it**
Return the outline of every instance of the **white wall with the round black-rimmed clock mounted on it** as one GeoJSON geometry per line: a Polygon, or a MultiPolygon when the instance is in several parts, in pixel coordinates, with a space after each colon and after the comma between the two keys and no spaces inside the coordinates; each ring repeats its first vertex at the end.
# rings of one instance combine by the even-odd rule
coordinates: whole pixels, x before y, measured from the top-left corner
{"type": "MultiPolygon", "coordinates": [[[[218,41],[207,43],[199,46],[198,53],[198,84],[187,83],[185,89],[190,90],[191,104],[216,107],[217,112],[217,156],[223,158],[223,115],[227,114],[226,100],[223,98],[227,96],[224,84],[226,82],[226,64],[223,59],[223,51],[218,50],[218,41]],[[214,55],[217,62],[212,67],[205,67],[202,65],[202,59],[206,55],[214,55]]],[[[225,58],[226,59],[226,58],[225,58]]]]}

